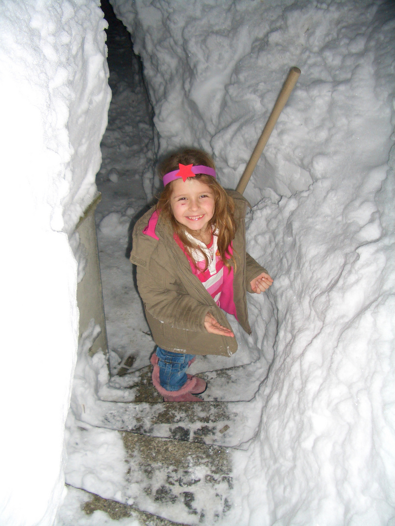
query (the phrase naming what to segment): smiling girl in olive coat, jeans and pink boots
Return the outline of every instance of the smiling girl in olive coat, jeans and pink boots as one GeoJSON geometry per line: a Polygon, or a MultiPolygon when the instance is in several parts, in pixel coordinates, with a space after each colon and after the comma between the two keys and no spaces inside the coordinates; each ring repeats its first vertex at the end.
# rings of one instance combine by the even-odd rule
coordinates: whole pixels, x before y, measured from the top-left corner
{"type": "Polygon", "coordinates": [[[238,345],[223,311],[251,334],[245,291],[273,280],[245,251],[247,201],[216,181],[203,151],[162,165],[164,190],[133,230],[131,261],[157,345],[152,380],[164,401],[201,401],[206,382],[187,375],[194,355],[231,356],[238,345]]]}

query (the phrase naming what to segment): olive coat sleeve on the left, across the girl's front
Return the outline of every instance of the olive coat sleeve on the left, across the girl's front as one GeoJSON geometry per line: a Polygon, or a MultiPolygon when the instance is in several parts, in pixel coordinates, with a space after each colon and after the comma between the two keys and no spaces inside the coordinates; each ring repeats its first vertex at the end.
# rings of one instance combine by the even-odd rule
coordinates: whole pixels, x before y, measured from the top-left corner
{"type": "Polygon", "coordinates": [[[137,287],[145,309],[153,318],[177,329],[205,331],[204,317],[210,306],[186,293],[168,267],[153,258],[147,267],[137,266],[137,287]]]}

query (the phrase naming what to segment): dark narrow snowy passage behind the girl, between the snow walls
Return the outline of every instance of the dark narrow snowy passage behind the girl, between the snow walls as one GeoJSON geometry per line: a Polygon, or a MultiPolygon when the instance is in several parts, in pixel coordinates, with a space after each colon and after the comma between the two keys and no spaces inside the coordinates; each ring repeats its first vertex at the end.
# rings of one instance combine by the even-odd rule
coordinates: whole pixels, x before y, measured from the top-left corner
{"type": "Polygon", "coordinates": [[[102,195],[95,217],[112,372],[130,357],[133,369],[149,363],[154,349],[129,261],[135,218],[152,197],[157,140],[143,66],[131,35],[108,0],[101,4],[108,23],[108,84],[112,100],[101,142],[96,185],[102,195]],[[125,257],[125,254],[127,257],[125,257]]]}

